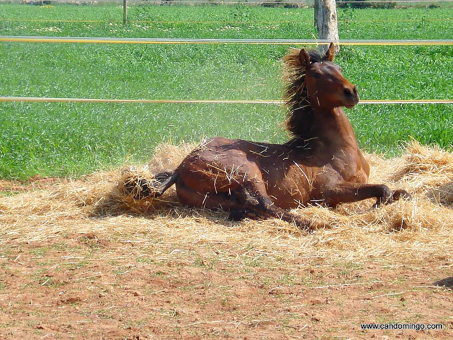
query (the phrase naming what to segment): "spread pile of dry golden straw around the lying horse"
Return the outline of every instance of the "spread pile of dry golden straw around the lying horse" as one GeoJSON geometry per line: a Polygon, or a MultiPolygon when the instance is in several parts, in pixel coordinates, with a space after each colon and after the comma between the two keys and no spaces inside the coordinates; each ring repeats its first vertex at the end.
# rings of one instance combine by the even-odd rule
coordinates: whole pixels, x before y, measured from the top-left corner
{"type": "Polygon", "coordinates": [[[193,147],[161,145],[143,170],[131,167],[97,172],[2,198],[0,244],[39,242],[60,233],[95,233],[100,238],[172,247],[248,246],[286,257],[329,261],[382,256],[404,261],[451,259],[452,153],[412,141],[398,158],[365,155],[371,166],[369,183],[406,189],[414,199],[375,210],[370,209],[374,200],[342,204],[336,210],[317,206],[298,209],[298,214],[333,225],[313,233],[276,219],[229,222],[224,212],[186,208],[177,203],[174,187],[161,199],[136,202],[124,196],[122,183],[130,176],[149,181],[152,173],[174,169],[193,147]]]}

